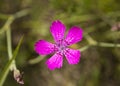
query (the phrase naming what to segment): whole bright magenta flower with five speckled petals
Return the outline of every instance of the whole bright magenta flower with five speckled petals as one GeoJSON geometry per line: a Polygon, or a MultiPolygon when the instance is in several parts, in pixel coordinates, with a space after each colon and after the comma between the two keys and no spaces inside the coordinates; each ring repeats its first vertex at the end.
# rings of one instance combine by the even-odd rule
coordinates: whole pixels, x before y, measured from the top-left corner
{"type": "Polygon", "coordinates": [[[77,26],[73,26],[68,34],[64,37],[66,27],[56,20],[50,27],[50,32],[55,40],[55,44],[45,40],[39,40],[35,44],[35,51],[40,55],[55,54],[46,61],[50,70],[61,68],[63,65],[63,56],[65,55],[69,64],[77,64],[80,61],[80,51],[68,48],[68,46],[82,40],[83,31],[77,26]]]}

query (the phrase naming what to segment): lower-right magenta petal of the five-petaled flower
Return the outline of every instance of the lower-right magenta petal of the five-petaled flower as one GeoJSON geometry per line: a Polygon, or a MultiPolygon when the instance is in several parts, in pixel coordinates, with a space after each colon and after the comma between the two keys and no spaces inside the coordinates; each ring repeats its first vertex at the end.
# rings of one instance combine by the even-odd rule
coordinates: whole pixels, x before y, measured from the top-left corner
{"type": "Polygon", "coordinates": [[[66,48],[64,55],[69,64],[77,64],[80,61],[80,51],[66,48]]]}

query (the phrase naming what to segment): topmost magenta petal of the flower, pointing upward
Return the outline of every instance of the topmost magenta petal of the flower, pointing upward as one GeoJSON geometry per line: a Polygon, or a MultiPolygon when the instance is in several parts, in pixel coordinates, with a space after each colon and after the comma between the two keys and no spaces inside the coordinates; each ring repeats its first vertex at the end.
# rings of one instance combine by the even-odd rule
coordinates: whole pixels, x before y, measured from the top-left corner
{"type": "Polygon", "coordinates": [[[52,23],[50,31],[55,42],[58,42],[59,40],[62,40],[64,38],[65,30],[66,30],[65,25],[62,24],[61,21],[56,20],[52,23]]]}

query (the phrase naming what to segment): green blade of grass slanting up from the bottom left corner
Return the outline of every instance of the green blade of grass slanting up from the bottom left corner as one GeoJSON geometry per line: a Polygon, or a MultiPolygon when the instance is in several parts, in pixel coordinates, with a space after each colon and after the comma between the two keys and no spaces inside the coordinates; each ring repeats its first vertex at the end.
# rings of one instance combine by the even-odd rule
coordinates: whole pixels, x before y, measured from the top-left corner
{"type": "Polygon", "coordinates": [[[10,66],[11,66],[12,62],[15,60],[15,58],[18,54],[18,51],[19,51],[19,48],[20,48],[20,45],[21,45],[22,41],[23,41],[23,37],[21,37],[21,39],[20,39],[20,41],[19,41],[19,43],[18,43],[18,45],[17,45],[17,47],[16,47],[16,49],[13,53],[12,58],[8,61],[8,63],[6,64],[6,66],[4,67],[4,69],[3,69],[3,71],[0,75],[0,86],[3,86],[3,84],[6,80],[6,77],[9,73],[9,70],[10,70],[10,66]]]}

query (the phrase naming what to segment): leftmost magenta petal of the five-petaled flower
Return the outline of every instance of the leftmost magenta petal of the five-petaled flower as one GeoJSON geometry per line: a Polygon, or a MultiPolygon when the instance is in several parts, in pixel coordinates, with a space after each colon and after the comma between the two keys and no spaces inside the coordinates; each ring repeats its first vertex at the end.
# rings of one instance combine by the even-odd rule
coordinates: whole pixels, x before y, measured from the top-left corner
{"type": "Polygon", "coordinates": [[[54,52],[56,50],[56,47],[54,44],[49,43],[45,40],[39,40],[36,42],[34,49],[38,54],[46,55],[54,52]]]}

